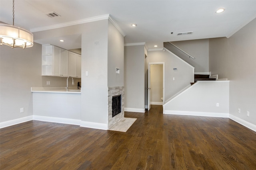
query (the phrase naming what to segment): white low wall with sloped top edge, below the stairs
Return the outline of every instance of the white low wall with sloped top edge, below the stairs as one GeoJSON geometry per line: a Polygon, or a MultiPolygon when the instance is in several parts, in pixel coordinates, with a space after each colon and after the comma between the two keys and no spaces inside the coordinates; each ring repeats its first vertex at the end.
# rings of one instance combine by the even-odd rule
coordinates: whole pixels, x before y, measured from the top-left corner
{"type": "MultiPolygon", "coordinates": [[[[164,108],[164,113],[178,114],[183,111],[184,115],[214,116],[222,117],[222,113],[229,113],[229,82],[228,81],[200,81],[192,85],[179,96],[170,100],[164,108]],[[219,104],[219,107],[216,104],[219,104]],[[176,112],[176,113],[175,113],[176,112]],[[221,114],[218,114],[221,113],[221,114]],[[219,116],[218,116],[219,115],[219,116]]],[[[225,116],[223,116],[225,117],[225,116]]]]}

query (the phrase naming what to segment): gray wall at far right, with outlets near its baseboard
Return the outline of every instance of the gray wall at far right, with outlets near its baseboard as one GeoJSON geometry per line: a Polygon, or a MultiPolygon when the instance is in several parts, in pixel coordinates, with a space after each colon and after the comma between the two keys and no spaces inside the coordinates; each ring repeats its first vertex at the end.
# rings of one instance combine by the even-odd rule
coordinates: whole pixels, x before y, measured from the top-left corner
{"type": "Polygon", "coordinates": [[[256,125],[256,19],[230,38],[210,39],[212,74],[230,80],[229,113],[256,125]],[[241,113],[238,113],[238,108],[241,113]],[[246,116],[250,111],[250,117],[246,116]]]}

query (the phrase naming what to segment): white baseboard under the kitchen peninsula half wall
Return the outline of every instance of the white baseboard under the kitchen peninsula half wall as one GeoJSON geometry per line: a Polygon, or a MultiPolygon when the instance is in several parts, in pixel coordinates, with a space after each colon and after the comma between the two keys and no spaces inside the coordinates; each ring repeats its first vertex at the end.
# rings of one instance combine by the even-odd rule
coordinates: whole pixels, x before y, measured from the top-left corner
{"type": "Polygon", "coordinates": [[[38,121],[48,121],[54,123],[64,123],[70,125],[80,125],[81,120],[78,119],[67,119],[67,118],[60,118],[60,117],[49,117],[49,116],[40,116],[40,115],[33,115],[33,120],[38,121]]]}

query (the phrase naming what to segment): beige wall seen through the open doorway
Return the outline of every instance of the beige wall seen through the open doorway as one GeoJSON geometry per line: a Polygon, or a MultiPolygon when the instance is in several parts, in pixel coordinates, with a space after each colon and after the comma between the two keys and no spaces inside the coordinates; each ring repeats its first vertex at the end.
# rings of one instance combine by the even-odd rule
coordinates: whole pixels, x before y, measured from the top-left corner
{"type": "Polygon", "coordinates": [[[163,97],[163,65],[151,64],[150,68],[150,102],[162,102],[163,97]]]}

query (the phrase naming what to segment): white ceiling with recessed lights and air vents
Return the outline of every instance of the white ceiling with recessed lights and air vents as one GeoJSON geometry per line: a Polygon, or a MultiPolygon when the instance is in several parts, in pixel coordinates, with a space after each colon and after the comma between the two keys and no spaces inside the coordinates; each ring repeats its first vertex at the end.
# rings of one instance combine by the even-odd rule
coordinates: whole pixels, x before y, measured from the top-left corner
{"type": "MultiPolygon", "coordinates": [[[[256,18],[256,0],[16,0],[14,25],[30,31],[44,30],[106,14],[126,35],[125,43],[146,42],[148,49],[154,49],[162,48],[167,41],[230,37],[256,18]],[[225,11],[216,14],[219,8],[225,11]],[[51,12],[60,17],[46,16],[51,12]],[[138,26],[132,27],[132,23],[138,26]],[[187,31],[193,31],[192,35],[177,36],[187,31]]],[[[0,21],[12,24],[11,0],[0,0],[0,21]]],[[[76,41],[70,48],[81,47],[79,35],[68,38],[76,41]]],[[[38,43],[59,42],[55,38],[38,43]]]]}

